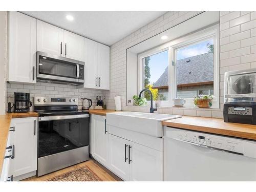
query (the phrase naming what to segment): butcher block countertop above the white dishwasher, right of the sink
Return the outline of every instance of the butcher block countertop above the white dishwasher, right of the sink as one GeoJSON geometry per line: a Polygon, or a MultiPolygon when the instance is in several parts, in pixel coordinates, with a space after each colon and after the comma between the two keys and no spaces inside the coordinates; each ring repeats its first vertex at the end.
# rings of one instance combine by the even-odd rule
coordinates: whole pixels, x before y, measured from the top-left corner
{"type": "Polygon", "coordinates": [[[256,125],[225,123],[223,119],[182,116],[162,121],[162,125],[206,133],[256,140],[256,125]]]}

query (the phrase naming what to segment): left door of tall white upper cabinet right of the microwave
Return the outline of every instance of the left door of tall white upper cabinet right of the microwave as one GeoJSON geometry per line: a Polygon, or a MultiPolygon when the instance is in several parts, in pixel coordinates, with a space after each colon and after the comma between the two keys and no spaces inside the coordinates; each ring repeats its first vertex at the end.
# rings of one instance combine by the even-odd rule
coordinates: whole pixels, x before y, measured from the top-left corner
{"type": "Polygon", "coordinates": [[[84,38],[84,86],[96,89],[98,86],[98,42],[84,38]]]}

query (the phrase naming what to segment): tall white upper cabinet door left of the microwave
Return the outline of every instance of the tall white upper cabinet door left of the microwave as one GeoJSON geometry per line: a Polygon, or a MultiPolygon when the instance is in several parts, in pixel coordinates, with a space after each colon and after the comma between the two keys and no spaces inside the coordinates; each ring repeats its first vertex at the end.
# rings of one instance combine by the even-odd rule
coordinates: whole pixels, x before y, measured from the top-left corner
{"type": "Polygon", "coordinates": [[[7,81],[36,83],[36,19],[9,12],[7,81]]]}

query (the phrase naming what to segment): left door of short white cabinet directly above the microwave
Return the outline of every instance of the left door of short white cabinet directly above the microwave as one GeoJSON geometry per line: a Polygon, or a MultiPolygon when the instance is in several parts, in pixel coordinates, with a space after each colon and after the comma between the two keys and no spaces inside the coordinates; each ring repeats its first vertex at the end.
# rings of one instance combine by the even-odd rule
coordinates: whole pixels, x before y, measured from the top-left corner
{"type": "Polygon", "coordinates": [[[63,56],[63,29],[37,20],[37,51],[63,56]]]}

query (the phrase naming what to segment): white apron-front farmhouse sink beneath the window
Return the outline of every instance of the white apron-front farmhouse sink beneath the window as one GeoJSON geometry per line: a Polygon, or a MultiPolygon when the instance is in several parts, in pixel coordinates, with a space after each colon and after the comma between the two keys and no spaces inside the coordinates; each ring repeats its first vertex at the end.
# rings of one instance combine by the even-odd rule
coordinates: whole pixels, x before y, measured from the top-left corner
{"type": "Polygon", "coordinates": [[[179,117],[181,116],[157,113],[117,112],[107,113],[106,123],[108,126],[115,126],[154,137],[162,137],[162,121],[179,117]]]}

